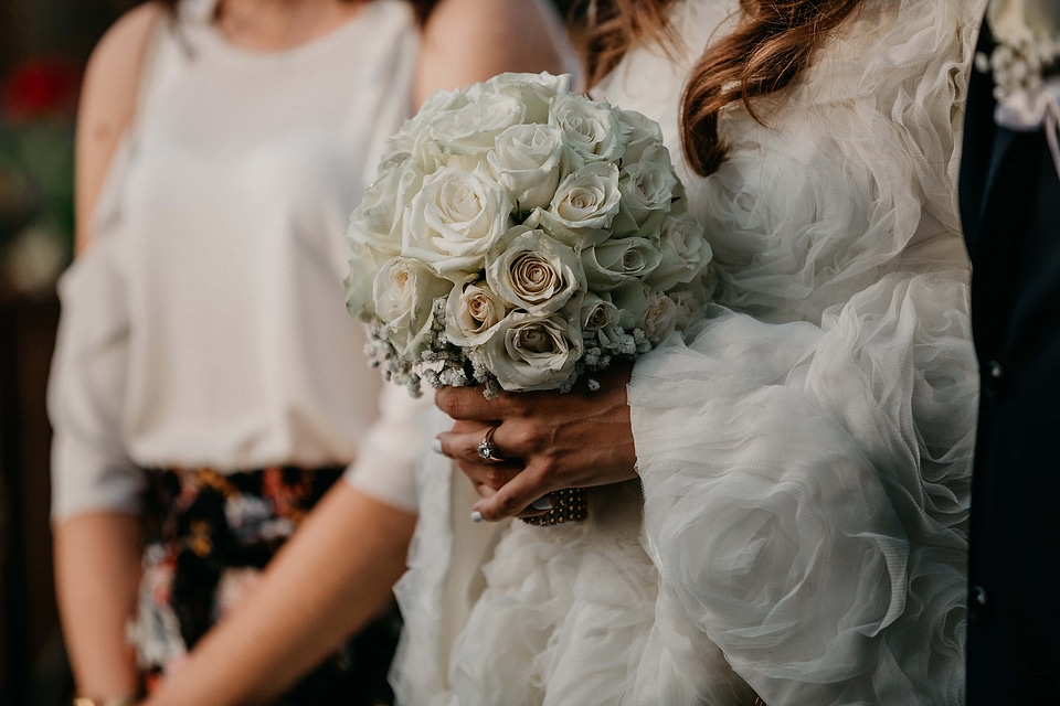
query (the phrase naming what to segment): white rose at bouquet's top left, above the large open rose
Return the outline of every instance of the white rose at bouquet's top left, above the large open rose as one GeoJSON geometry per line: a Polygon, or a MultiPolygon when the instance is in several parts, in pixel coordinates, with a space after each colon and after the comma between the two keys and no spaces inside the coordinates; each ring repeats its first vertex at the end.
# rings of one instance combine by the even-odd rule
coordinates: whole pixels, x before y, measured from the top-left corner
{"type": "MultiPolygon", "coordinates": [[[[518,98],[502,94],[483,94],[466,106],[438,114],[431,120],[420,148],[436,153],[438,164],[470,171],[483,163],[497,136],[526,118],[518,98]]],[[[425,159],[427,171],[431,160],[425,159]]]]}

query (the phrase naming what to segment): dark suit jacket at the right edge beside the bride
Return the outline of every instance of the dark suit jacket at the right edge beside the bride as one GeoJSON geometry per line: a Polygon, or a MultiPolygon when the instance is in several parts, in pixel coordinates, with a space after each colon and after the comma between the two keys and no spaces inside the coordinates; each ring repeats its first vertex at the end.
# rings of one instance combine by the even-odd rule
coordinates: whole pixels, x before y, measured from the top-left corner
{"type": "Polygon", "coordinates": [[[1060,703],[1060,179],[1042,130],[995,125],[992,88],[973,71],[961,168],[983,384],[967,703],[1060,703]]]}

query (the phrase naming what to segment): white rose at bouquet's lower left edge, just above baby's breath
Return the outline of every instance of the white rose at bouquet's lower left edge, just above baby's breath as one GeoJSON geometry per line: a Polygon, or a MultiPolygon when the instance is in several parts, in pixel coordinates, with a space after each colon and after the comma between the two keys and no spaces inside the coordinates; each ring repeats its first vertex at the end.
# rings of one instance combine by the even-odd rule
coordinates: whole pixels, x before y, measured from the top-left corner
{"type": "Polygon", "coordinates": [[[418,260],[394,257],[380,267],[372,282],[375,315],[386,324],[388,339],[403,359],[416,361],[430,347],[434,300],[452,288],[418,260]]]}

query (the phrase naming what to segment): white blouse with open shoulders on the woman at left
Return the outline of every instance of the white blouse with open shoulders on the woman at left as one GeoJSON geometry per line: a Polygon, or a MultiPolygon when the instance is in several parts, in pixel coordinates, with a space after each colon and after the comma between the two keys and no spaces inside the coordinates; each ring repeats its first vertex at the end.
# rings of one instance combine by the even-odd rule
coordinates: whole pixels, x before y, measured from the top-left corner
{"type": "MultiPolygon", "coordinates": [[[[60,284],[55,517],[135,511],[141,467],[347,464],[379,411],[342,234],[411,111],[412,10],[377,0],[255,53],[220,33],[214,4],[186,2],[156,33],[96,242],[60,284]]],[[[394,434],[388,466],[407,445],[394,434]]],[[[414,507],[410,473],[389,470],[365,485],[414,507]]]]}

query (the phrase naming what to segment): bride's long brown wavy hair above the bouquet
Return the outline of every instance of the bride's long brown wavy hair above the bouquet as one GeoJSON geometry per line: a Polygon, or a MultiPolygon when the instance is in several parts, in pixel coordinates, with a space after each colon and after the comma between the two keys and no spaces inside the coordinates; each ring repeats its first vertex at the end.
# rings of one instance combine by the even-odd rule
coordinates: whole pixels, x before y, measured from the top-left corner
{"type": "MultiPolygon", "coordinates": [[[[583,0],[576,38],[589,85],[634,45],[674,47],[668,20],[677,0],[583,0]]],[[[740,19],[692,67],[681,96],[681,149],[702,175],[718,170],[728,146],[718,133],[721,110],[740,101],[759,122],[753,100],[776,94],[809,66],[814,52],[862,0],[740,0],[740,19]]],[[[704,40],[707,38],[703,38],[704,40]]]]}

